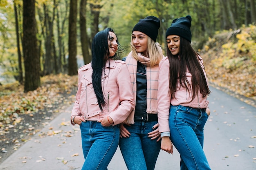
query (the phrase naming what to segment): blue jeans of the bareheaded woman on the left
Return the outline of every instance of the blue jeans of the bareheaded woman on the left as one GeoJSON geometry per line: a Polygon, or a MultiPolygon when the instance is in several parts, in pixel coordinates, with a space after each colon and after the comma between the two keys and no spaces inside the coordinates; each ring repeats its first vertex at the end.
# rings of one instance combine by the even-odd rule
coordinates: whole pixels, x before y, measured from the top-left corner
{"type": "Polygon", "coordinates": [[[120,135],[119,125],[104,127],[97,121],[80,124],[84,163],[82,170],[107,170],[120,135]]]}

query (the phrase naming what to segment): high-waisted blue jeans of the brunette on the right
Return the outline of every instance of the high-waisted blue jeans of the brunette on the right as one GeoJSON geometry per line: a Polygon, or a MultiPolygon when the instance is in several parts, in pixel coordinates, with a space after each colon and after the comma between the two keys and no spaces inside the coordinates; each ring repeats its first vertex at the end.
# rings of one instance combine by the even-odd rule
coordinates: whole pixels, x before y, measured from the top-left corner
{"type": "Polygon", "coordinates": [[[180,170],[211,170],[203,150],[205,109],[171,106],[171,141],[180,153],[180,170]]]}

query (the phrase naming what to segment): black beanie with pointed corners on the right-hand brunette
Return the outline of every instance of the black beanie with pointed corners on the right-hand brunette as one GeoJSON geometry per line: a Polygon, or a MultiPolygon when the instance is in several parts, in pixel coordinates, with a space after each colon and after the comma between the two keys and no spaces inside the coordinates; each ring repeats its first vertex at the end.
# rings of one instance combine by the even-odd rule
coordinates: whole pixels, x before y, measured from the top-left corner
{"type": "Polygon", "coordinates": [[[179,35],[180,37],[191,42],[191,20],[192,18],[190,15],[174,19],[171,26],[166,30],[165,38],[167,38],[168,35],[179,35]]]}

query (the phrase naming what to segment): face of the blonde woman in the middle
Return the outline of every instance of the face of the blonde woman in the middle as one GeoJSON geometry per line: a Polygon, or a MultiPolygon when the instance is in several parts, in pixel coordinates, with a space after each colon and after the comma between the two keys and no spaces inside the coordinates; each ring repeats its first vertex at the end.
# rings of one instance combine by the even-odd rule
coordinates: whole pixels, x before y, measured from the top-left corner
{"type": "Polygon", "coordinates": [[[135,47],[137,53],[146,55],[146,52],[148,49],[148,35],[140,32],[140,31],[133,31],[132,32],[132,44],[135,47]]]}

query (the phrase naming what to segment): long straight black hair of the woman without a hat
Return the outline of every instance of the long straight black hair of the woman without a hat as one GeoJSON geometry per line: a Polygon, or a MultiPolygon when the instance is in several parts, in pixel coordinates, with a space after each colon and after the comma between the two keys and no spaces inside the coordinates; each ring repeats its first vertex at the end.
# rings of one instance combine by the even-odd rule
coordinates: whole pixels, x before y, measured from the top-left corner
{"type": "MultiPolygon", "coordinates": [[[[106,104],[101,86],[101,76],[103,71],[105,71],[106,62],[110,58],[108,44],[109,32],[115,33],[113,29],[106,28],[103,31],[99,31],[92,39],[92,86],[101,111],[103,110],[102,107],[106,104]]],[[[118,41],[117,44],[119,48],[118,41]]],[[[117,53],[111,58],[116,57],[117,53]]]]}

